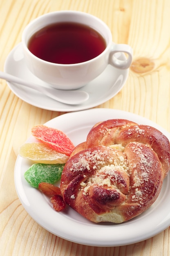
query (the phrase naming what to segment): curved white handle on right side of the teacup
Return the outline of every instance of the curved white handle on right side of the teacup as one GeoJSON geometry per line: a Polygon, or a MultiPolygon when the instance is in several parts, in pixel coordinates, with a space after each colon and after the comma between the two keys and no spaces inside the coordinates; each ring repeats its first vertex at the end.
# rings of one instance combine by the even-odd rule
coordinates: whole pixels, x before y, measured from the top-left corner
{"type": "Polygon", "coordinates": [[[133,50],[129,45],[126,44],[113,44],[113,47],[109,54],[109,64],[111,64],[114,67],[120,68],[120,69],[127,69],[130,67],[132,63],[132,56],[133,56],[133,50]],[[126,53],[128,54],[128,58],[123,59],[119,58],[119,54],[116,56],[116,53],[126,53]]]}

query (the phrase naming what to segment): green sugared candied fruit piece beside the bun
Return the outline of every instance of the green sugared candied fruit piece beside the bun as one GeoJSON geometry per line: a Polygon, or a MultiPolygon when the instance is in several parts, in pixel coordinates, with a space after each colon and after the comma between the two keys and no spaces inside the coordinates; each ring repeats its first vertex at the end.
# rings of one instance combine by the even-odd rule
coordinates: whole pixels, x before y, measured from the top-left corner
{"type": "Polygon", "coordinates": [[[25,172],[24,177],[31,186],[38,188],[41,182],[54,184],[61,178],[65,164],[33,164],[25,172]]]}

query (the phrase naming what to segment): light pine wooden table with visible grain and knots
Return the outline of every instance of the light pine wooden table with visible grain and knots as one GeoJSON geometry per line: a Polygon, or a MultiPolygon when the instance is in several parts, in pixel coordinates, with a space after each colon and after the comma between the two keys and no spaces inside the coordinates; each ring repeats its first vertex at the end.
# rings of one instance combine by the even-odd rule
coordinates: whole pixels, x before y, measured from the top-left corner
{"type": "MultiPolygon", "coordinates": [[[[0,70],[24,27],[57,10],[78,10],[101,18],[113,41],[134,49],[125,86],[96,106],[146,117],[170,132],[170,1],[169,0],[1,0],[0,70]]],[[[121,247],[90,247],[63,240],[38,225],[18,199],[13,179],[18,148],[32,126],[63,115],[25,103],[0,79],[0,255],[4,256],[168,256],[169,228],[157,236],[121,247]]]]}

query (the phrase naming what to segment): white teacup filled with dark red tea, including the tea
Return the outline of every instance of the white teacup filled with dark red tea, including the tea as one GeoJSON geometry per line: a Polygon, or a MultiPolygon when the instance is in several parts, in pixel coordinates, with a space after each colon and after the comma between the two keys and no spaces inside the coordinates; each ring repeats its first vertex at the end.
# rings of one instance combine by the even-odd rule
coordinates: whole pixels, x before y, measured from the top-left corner
{"type": "Polygon", "coordinates": [[[128,69],[132,62],[129,45],[113,43],[102,20],[80,11],[55,11],[31,21],[22,33],[22,47],[29,70],[61,90],[83,87],[108,64],[128,69]],[[121,52],[128,57],[116,58],[121,52]]]}

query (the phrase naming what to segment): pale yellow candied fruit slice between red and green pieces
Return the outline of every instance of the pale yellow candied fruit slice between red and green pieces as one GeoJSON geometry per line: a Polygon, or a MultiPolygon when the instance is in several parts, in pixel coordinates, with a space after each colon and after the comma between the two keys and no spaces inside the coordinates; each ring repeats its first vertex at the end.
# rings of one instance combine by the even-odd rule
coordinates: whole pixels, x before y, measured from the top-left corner
{"type": "Polygon", "coordinates": [[[19,148],[21,157],[41,164],[65,164],[68,156],[59,153],[42,142],[25,143],[19,148]]]}

